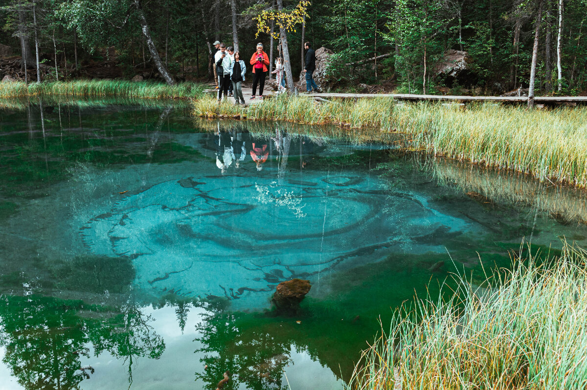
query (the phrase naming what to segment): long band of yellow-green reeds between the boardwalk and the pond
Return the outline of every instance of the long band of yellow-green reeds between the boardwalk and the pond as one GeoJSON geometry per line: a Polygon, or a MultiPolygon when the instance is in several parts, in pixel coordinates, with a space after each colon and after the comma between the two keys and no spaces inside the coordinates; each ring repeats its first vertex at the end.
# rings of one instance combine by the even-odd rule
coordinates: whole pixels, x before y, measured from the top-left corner
{"type": "Polygon", "coordinates": [[[387,98],[316,103],[308,97],[280,96],[235,108],[212,101],[204,97],[195,103],[194,115],[375,127],[406,134],[406,148],[587,187],[585,107],[529,111],[487,103],[463,110],[438,103],[395,104],[387,98]]]}

